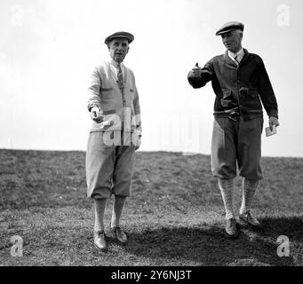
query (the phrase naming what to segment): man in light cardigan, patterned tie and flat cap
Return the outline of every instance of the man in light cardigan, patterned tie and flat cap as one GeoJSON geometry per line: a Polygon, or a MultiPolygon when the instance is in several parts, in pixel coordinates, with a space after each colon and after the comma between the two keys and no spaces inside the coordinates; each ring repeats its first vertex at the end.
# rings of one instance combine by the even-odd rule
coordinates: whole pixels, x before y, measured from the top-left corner
{"type": "Polygon", "coordinates": [[[88,110],[92,118],[87,151],[87,197],[94,204],[94,246],[108,249],[104,212],[108,198],[114,195],[110,233],[125,244],[128,239],[120,227],[124,202],[131,191],[132,163],[140,146],[140,104],[132,70],[124,58],[134,36],[117,32],[105,39],[110,59],[92,72],[88,110]]]}

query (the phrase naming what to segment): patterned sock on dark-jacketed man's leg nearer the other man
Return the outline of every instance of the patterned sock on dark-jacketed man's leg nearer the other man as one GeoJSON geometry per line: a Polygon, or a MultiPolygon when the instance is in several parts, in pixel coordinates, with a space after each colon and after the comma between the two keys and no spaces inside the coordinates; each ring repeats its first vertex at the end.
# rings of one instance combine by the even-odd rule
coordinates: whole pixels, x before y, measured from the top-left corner
{"type": "Polygon", "coordinates": [[[226,219],[235,217],[233,208],[234,179],[218,178],[219,190],[222,194],[226,219]]]}

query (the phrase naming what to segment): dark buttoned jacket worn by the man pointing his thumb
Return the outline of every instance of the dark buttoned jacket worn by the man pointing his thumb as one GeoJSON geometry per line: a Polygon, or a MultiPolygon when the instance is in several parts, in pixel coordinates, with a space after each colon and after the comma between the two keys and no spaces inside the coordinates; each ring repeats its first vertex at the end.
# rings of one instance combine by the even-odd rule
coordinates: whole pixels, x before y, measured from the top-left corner
{"type": "Polygon", "coordinates": [[[238,66],[226,51],[204,65],[201,77],[191,77],[189,72],[187,80],[195,89],[211,81],[216,94],[215,116],[234,117],[242,114],[244,120],[250,120],[263,115],[263,104],[268,116],[278,117],[275,93],[263,60],[245,49],[238,66]]]}

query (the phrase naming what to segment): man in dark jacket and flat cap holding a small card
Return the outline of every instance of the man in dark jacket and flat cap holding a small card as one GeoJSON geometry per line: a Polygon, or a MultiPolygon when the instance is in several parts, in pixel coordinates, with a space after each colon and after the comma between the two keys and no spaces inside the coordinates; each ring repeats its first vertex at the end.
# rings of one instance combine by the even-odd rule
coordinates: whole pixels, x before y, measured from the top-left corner
{"type": "Polygon", "coordinates": [[[269,127],[279,125],[275,93],[263,60],[242,47],[243,24],[228,22],[216,33],[227,51],[215,56],[203,68],[196,66],[188,73],[193,88],[211,81],[216,94],[211,141],[211,171],[219,179],[219,189],[226,209],[226,233],[235,238],[238,229],[233,209],[236,164],[243,177],[243,200],[240,219],[258,226],[251,216],[253,195],[263,178],[260,168],[262,104],[269,117],[269,127]]]}

